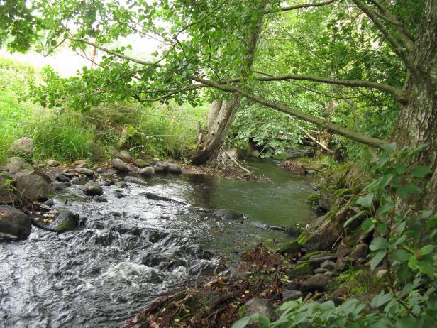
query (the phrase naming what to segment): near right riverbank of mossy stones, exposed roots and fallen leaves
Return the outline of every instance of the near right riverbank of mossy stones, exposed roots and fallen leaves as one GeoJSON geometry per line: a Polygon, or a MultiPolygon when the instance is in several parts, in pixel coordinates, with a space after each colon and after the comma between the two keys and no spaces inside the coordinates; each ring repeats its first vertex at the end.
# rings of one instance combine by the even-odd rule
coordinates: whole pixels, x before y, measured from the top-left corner
{"type": "Polygon", "coordinates": [[[297,240],[279,251],[262,244],[245,251],[237,270],[162,295],[123,328],[231,327],[255,313],[272,322],[281,305],[294,300],[341,305],[356,299],[371,307],[370,300],[385,288],[387,270],[370,270],[371,233],[361,234],[357,223],[343,227],[358,212],[351,204],[366,182],[362,177],[357,185],[355,174],[348,164],[321,171],[319,192],[308,201],[327,212],[309,222],[297,240]]]}

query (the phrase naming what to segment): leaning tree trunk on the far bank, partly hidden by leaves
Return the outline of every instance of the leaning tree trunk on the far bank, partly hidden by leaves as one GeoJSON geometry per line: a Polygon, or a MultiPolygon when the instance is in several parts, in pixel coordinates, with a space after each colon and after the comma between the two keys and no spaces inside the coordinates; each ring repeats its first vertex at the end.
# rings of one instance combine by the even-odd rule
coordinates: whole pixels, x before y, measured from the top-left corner
{"type": "MultiPolygon", "coordinates": [[[[269,0],[262,0],[260,4],[260,12],[264,11],[269,0]]],[[[258,10],[258,9],[257,9],[258,10]]],[[[255,26],[255,30],[248,38],[245,45],[245,65],[248,70],[252,68],[253,60],[255,59],[255,50],[258,45],[260,33],[262,31],[262,17],[255,26]]],[[[202,165],[208,160],[214,160],[219,155],[221,145],[223,144],[228,130],[231,128],[236,117],[238,107],[240,106],[240,95],[233,94],[228,101],[220,102],[221,107],[217,113],[218,102],[213,102],[210,112],[207,117],[206,129],[208,134],[205,137],[203,146],[198,149],[197,153],[192,158],[194,165],[202,165]],[[211,119],[212,118],[212,119],[211,119]]]]}

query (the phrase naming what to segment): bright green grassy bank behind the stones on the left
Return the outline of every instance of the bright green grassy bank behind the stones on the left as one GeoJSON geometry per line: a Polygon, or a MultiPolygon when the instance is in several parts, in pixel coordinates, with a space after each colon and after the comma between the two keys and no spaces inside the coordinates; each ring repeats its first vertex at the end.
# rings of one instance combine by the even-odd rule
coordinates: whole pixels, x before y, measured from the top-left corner
{"type": "Polygon", "coordinates": [[[13,141],[33,138],[36,160],[86,158],[87,141],[126,148],[134,155],[184,158],[194,148],[197,122],[206,107],[131,103],[101,105],[91,111],[43,108],[28,98],[40,82],[33,67],[0,59],[0,164],[13,141]]]}

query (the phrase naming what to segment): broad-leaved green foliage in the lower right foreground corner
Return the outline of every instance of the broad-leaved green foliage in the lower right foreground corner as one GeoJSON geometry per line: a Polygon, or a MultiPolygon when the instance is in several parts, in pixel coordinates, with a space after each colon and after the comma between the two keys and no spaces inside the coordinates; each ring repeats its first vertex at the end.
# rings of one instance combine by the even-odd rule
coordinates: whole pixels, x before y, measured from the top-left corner
{"type": "MultiPolygon", "coordinates": [[[[434,327],[437,324],[437,213],[435,209],[398,209],[396,199],[414,197],[420,191],[416,182],[431,170],[425,165],[410,168],[410,161],[424,146],[409,151],[386,147],[375,162],[375,179],[365,188],[367,194],[357,203],[372,217],[361,224],[363,231],[374,231],[370,243],[370,269],[385,268],[389,291],[373,297],[372,310],[359,300],[340,306],[332,301],[285,302],[275,322],[254,315],[240,319],[233,327],[245,327],[250,319],[260,327],[434,327]]],[[[357,216],[345,222],[357,219],[357,216]]]]}

